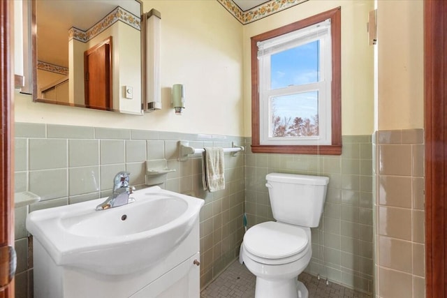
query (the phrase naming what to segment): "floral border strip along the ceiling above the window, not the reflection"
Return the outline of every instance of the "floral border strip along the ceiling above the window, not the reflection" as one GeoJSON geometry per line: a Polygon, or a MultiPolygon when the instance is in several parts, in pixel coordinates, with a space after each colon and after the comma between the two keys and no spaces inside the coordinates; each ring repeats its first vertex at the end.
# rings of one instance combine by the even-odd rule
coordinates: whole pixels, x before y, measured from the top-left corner
{"type": "Polygon", "coordinates": [[[268,17],[281,10],[291,8],[308,0],[272,0],[260,6],[251,8],[250,10],[242,11],[233,0],[217,0],[221,5],[228,10],[241,24],[249,24],[263,17],[268,17]]]}

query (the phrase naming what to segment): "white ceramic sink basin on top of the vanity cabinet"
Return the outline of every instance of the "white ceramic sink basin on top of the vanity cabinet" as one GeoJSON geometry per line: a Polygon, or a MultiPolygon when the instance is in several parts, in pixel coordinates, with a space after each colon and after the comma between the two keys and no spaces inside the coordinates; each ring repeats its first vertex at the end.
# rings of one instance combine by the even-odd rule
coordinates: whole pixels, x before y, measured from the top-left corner
{"type": "Polygon", "coordinates": [[[105,198],[31,212],[27,230],[59,266],[131,274],[163,260],[188,236],[203,200],[159,186],[135,202],[96,211],[105,198]]]}

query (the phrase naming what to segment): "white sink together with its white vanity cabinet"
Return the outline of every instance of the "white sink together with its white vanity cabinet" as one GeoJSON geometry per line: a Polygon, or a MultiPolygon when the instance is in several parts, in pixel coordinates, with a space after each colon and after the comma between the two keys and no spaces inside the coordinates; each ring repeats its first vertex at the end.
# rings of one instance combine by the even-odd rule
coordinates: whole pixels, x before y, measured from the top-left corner
{"type": "Polygon", "coordinates": [[[154,186],[135,202],[104,199],[34,211],[34,297],[199,297],[203,200],[154,186]]]}

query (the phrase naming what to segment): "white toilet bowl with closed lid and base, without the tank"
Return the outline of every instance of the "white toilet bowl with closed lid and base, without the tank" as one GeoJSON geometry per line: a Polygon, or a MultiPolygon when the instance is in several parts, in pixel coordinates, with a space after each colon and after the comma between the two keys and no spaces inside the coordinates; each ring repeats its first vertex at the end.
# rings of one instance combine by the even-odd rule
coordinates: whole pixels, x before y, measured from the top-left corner
{"type": "Polygon", "coordinates": [[[307,298],[298,275],[312,257],[310,229],[268,221],[244,235],[241,259],[256,276],[256,298],[307,298]]]}

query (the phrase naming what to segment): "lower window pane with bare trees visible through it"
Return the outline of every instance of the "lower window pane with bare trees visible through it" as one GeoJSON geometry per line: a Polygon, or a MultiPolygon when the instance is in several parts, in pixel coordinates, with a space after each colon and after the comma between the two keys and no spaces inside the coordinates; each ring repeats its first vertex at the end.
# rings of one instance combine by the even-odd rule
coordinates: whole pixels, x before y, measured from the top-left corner
{"type": "Polygon", "coordinates": [[[270,98],[270,137],[318,136],[318,91],[270,98]]]}

